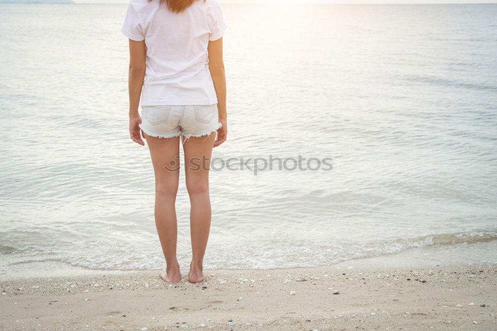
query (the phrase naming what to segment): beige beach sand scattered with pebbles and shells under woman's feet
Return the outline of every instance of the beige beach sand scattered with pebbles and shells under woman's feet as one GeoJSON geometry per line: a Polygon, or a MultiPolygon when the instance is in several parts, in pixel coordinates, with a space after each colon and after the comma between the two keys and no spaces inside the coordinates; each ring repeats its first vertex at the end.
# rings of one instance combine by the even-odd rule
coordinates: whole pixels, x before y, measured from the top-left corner
{"type": "Polygon", "coordinates": [[[497,330],[496,272],[373,261],[207,270],[199,284],[158,271],[16,278],[0,281],[0,329],[497,330]]]}

